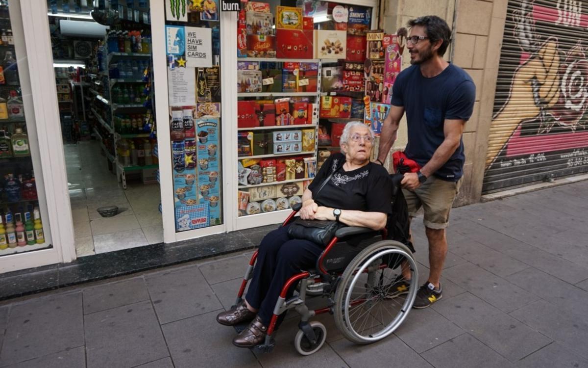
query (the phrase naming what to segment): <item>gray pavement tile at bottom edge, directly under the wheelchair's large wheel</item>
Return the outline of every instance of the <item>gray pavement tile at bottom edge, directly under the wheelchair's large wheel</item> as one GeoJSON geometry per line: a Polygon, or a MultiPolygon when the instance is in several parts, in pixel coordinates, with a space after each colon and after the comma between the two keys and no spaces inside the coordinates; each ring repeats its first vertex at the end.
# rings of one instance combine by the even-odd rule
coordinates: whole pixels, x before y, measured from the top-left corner
{"type": "MultiPolygon", "coordinates": [[[[369,345],[354,344],[346,339],[329,345],[350,367],[410,367],[430,368],[425,359],[415,353],[395,335],[369,345]]],[[[324,348],[323,348],[324,349],[324,348]]],[[[265,366],[264,366],[265,367],[265,366]]]]}

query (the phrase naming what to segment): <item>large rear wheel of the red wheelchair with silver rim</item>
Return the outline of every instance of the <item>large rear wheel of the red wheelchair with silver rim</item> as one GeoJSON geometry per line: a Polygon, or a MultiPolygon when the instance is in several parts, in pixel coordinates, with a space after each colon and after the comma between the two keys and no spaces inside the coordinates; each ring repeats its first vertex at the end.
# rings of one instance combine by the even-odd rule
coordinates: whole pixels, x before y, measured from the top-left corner
{"type": "Polygon", "coordinates": [[[379,341],[406,318],[417,290],[418,273],[411,251],[397,241],[378,241],[345,268],[335,292],[335,324],[354,343],[379,341]],[[403,261],[410,268],[410,280],[403,279],[400,272],[403,261]]]}

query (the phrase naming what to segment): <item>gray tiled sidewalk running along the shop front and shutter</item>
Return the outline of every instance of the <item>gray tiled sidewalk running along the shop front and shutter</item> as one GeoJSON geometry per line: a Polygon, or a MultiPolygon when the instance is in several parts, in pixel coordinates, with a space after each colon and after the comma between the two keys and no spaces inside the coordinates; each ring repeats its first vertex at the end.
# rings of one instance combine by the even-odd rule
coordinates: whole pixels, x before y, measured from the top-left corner
{"type": "MultiPolygon", "coordinates": [[[[216,314],[252,253],[229,254],[0,303],[0,367],[588,367],[588,181],[455,208],[443,299],[366,346],[317,319],[327,343],[271,354],[233,347],[216,314]]],[[[424,227],[413,223],[419,272],[424,227]]],[[[295,313],[292,313],[294,315],[295,313]]]]}

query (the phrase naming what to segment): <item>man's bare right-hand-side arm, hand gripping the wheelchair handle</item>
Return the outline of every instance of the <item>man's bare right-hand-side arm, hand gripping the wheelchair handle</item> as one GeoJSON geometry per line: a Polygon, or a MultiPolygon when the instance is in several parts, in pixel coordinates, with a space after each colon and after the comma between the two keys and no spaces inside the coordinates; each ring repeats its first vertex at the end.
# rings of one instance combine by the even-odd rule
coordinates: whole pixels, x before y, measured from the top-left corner
{"type": "MultiPolygon", "coordinates": [[[[446,119],[443,124],[443,133],[445,134],[445,140],[437,147],[433,157],[420,169],[427,178],[433,175],[435,171],[439,170],[447,160],[453,155],[459,142],[462,140],[463,127],[466,124],[465,120],[446,119]]],[[[420,186],[419,177],[416,173],[406,173],[402,182],[400,183],[403,188],[416,189],[420,186]]]]}

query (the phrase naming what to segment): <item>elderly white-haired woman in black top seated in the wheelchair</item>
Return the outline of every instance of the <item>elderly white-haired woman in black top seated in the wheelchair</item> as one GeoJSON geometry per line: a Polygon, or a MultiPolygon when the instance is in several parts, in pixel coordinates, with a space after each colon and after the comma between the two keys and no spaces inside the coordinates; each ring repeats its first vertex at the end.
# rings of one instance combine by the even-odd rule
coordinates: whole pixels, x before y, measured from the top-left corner
{"type": "MultiPolygon", "coordinates": [[[[391,213],[392,184],[382,165],[370,163],[373,131],[359,121],[349,122],[341,135],[341,151],[325,161],[302,196],[300,217],[305,220],[337,220],[348,226],[380,230],[391,213]],[[320,190],[322,182],[330,180],[320,190]]],[[[220,324],[233,326],[253,320],[233,339],[238,347],[263,342],[273,308],[286,280],[315,266],[323,247],[308,240],[292,239],[288,226],[267,234],[259,246],[253,279],[242,304],[220,313],[220,324]]],[[[291,296],[293,290],[290,290],[291,296]]]]}

